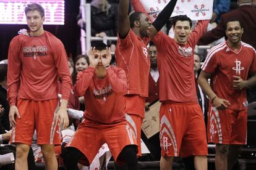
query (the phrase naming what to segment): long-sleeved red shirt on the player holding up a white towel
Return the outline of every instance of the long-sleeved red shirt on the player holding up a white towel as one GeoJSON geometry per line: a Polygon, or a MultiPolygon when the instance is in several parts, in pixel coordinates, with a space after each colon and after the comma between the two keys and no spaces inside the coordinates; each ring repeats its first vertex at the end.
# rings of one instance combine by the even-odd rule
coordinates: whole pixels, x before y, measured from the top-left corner
{"type": "Polygon", "coordinates": [[[153,42],[157,48],[161,102],[197,102],[194,76],[194,48],[209,20],[200,20],[186,44],[179,44],[163,32],[153,42]]]}

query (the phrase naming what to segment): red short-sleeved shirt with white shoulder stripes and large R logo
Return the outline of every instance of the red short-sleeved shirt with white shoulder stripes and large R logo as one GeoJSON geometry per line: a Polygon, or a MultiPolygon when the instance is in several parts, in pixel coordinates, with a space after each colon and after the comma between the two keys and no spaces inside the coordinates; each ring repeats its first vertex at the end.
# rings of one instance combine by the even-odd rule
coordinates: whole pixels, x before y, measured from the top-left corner
{"type": "Polygon", "coordinates": [[[246,89],[236,90],[233,87],[233,76],[246,80],[249,73],[256,72],[255,49],[241,42],[239,51],[233,51],[227,42],[222,42],[210,49],[202,70],[212,74],[211,88],[221,99],[229,100],[228,108],[245,110],[247,107],[246,89]]]}

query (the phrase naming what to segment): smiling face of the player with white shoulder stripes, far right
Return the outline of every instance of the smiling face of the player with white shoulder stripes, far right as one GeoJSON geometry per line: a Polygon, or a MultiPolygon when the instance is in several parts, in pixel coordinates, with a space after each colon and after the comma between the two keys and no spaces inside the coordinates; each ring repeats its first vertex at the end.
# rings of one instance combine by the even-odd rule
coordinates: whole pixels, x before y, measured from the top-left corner
{"type": "Polygon", "coordinates": [[[244,29],[241,28],[241,25],[238,21],[232,21],[227,23],[226,36],[228,36],[228,43],[231,46],[236,46],[240,44],[242,33],[244,29]]]}

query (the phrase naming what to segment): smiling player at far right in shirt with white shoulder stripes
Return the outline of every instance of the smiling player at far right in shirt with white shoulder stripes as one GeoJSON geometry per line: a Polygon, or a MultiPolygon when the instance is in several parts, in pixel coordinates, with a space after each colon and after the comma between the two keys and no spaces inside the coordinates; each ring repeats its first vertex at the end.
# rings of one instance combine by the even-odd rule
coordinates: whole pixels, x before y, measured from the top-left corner
{"type": "Polygon", "coordinates": [[[229,18],[228,40],[210,49],[198,84],[210,97],[208,142],[216,144],[216,169],[232,169],[247,141],[246,88],[256,84],[255,49],[241,41],[241,22],[229,18]],[[248,76],[252,75],[249,79],[248,76]],[[208,79],[211,79],[211,86],[208,79]]]}

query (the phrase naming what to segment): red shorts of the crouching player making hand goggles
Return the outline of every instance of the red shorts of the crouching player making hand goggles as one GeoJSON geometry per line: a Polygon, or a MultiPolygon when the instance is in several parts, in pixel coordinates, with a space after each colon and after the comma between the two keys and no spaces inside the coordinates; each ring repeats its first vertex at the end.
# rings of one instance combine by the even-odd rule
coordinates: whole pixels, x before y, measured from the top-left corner
{"type": "Polygon", "coordinates": [[[119,153],[127,145],[136,145],[127,127],[126,121],[115,124],[95,124],[88,120],[79,124],[77,131],[66,147],[75,147],[85,155],[88,163],[92,163],[103,144],[108,144],[109,150],[117,160],[119,153]]]}

